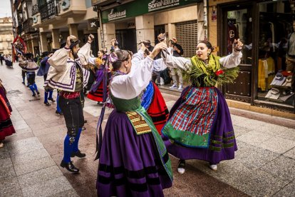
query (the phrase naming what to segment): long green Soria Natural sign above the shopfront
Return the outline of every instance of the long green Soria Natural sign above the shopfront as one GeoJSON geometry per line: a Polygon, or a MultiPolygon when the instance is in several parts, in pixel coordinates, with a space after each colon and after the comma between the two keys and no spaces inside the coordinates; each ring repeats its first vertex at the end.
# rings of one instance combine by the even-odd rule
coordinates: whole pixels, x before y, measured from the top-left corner
{"type": "Polygon", "coordinates": [[[200,0],[136,0],[102,12],[103,23],[148,14],[153,11],[197,4],[200,0]]]}

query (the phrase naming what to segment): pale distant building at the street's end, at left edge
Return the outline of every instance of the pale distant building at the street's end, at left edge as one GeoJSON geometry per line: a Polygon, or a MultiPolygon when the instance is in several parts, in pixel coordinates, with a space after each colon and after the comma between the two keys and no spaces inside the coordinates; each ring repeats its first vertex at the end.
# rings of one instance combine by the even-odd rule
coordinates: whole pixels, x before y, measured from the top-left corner
{"type": "Polygon", "coordinates": [[[11,43],[14,41],[12,18],[0,19],[0,54],[11,54],[11,43]]]}

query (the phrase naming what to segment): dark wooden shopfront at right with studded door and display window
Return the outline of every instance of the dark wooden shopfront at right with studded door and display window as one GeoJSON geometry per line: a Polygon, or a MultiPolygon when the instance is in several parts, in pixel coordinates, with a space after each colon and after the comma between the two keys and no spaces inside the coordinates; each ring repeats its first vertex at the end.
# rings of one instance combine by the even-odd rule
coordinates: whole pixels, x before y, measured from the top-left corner
{"type": "Polygon", "coordinates": [[[295,44],[294,4],[289,0],[209,1],[209,41],[219,46],[219,56],[229,54],[234,39],[244,42],[239,77],[222,90],[229,99],[251,104],[245,109],[258,106],[256,111],[274,115],[272,109],[295,111],[293,67],[286,64],[286,54],[295,55],[294,45],[290,46],[295,44]]]}

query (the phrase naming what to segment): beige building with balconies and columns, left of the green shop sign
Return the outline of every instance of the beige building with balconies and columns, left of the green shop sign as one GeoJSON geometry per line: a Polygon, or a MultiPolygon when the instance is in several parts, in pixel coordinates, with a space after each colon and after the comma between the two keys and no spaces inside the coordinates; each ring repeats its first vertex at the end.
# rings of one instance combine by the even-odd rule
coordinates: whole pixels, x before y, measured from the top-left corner
{"type": "Polygon", "coordinates": [[[32,26],[39,29],[41,51],[59,49],[68,35],[86,43],[89,34],[94,34],[93,54],[98,51],[98,15],[90,0],[33,0],[32,26]]]}

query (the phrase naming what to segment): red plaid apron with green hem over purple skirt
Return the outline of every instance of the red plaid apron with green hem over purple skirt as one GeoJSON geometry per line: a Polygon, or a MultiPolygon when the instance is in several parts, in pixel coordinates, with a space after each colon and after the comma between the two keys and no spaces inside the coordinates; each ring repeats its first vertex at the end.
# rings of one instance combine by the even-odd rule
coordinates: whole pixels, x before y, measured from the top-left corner
{"type": "Polygon", "coordinates": [[[187,147],[208,148],[217,111],[214,87],[188,89],[183,102],[162,129],[162,134],[187,147]]]}

